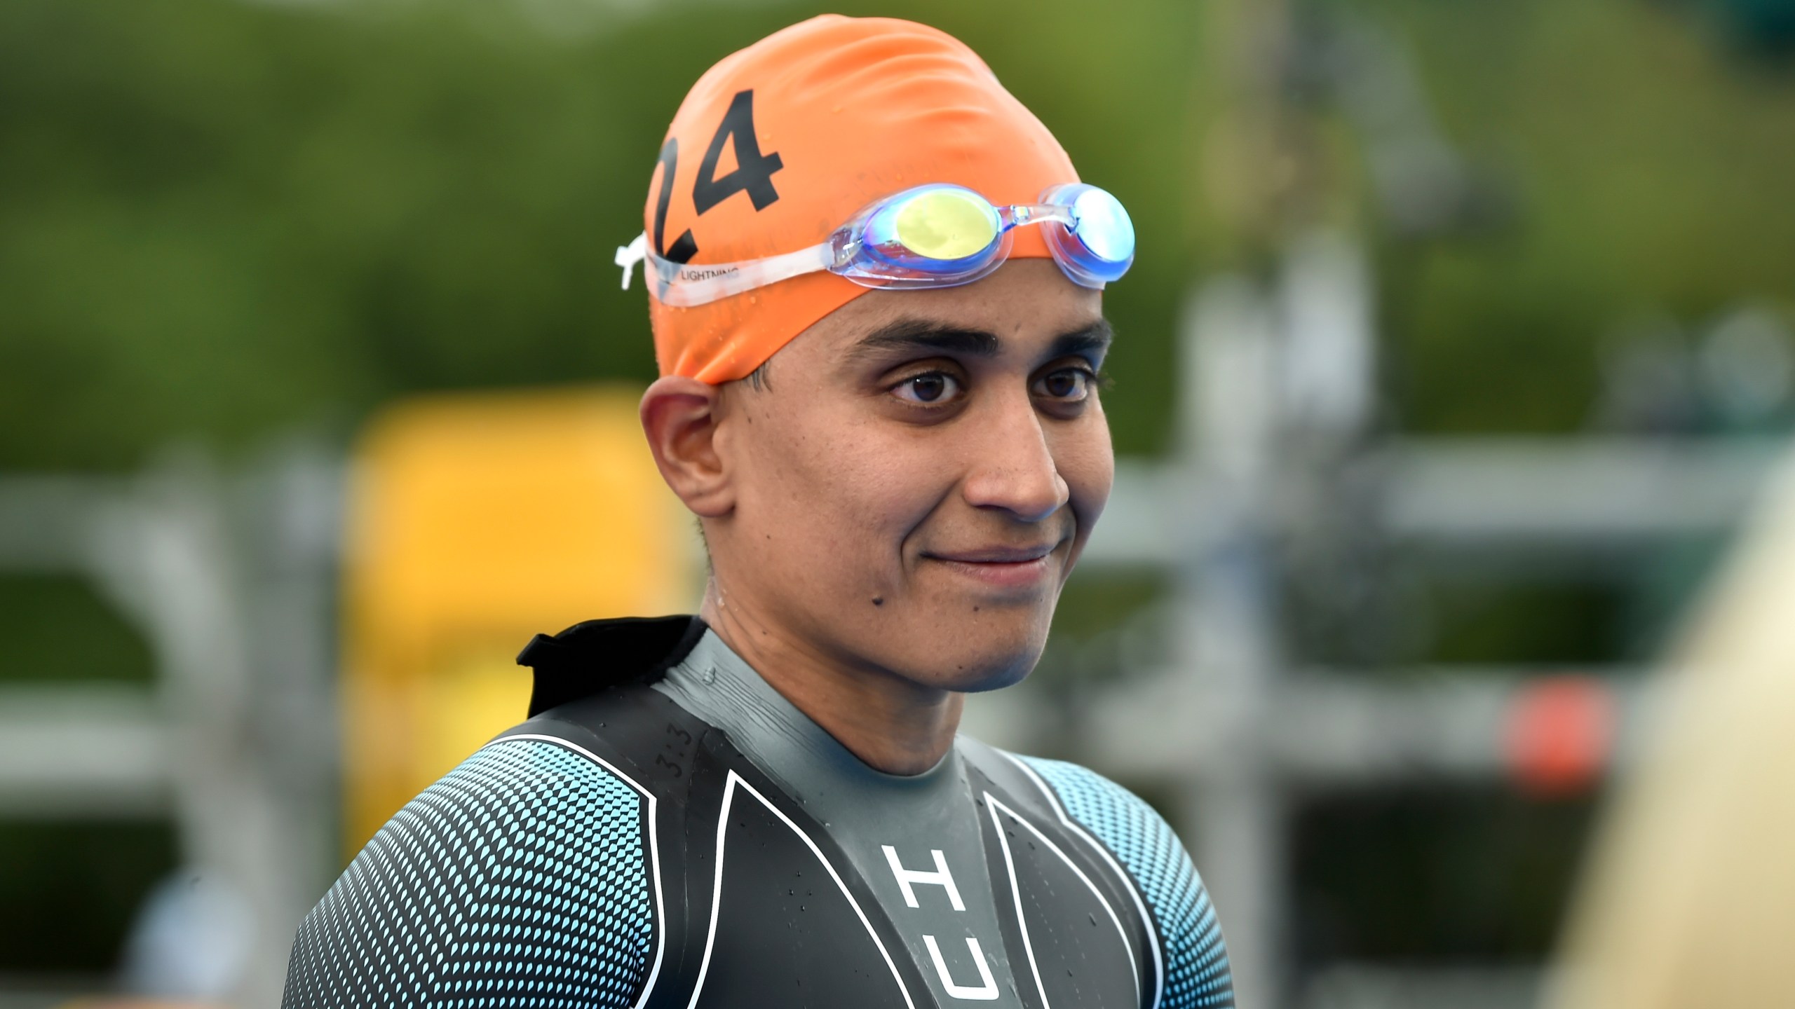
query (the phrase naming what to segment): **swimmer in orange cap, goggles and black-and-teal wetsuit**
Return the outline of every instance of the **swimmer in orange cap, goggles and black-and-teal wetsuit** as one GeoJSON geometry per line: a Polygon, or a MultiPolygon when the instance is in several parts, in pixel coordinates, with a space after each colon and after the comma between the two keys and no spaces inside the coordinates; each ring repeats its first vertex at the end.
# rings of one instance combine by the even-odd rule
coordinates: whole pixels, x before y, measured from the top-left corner
{"type": "Polygon", "coordinates": [[[530,718],[355,856],[284,1004],[1233,1005],[1163,819],[957,734],[1036,664],[1109,494],[1133,255],[935,29],[822,16],[713,66],[617,257],[702,610],[531,641],[530,718]]]}

